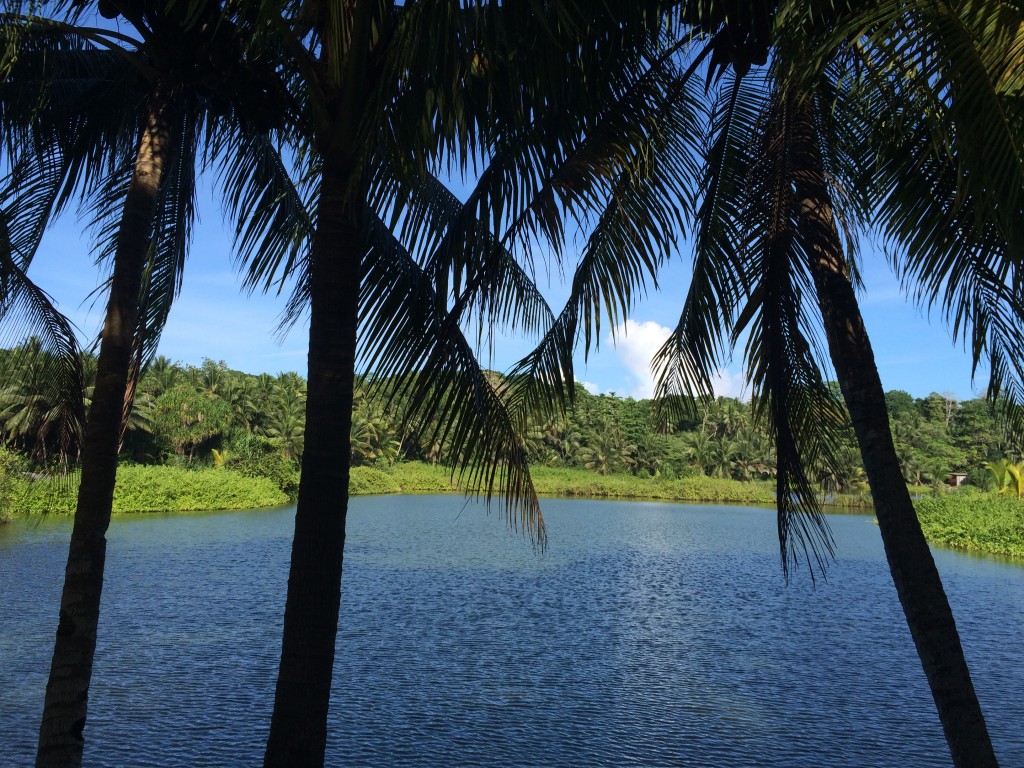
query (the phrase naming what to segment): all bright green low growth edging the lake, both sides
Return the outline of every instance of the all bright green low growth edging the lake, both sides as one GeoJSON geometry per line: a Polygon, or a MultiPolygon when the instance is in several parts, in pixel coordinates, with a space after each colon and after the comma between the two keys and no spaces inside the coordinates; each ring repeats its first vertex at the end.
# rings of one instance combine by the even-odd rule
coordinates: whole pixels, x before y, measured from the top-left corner
{"type": "MultiPolygon", "coordinates": [[[[632,475],[602,476],[582,469],[536,467],[538,493],[548,497],[645,499],[656,501],[774,504],[770,482],[739,482],[715,477],[667,480],[632,475]]],[[[452,494],[459,487],[444,467],[421,463],[387,469],[353,467],[353,496],[452,494]]],[[[17,514],[71,514],[78,484],[74,478],[30,482],[0,472],[0,522],[17,514]]],[[[862,497],[844,500],[859,506],[862,497]]],[[[266,477],[247,477],[225,469],[126,466],[118,470],[116,514],[256,509],[287,504],[288,496],[266,477]]],[[[979,553],[1024,558],[1024,501],[969,488],[915,502],[929,541],[979,553]]]]}

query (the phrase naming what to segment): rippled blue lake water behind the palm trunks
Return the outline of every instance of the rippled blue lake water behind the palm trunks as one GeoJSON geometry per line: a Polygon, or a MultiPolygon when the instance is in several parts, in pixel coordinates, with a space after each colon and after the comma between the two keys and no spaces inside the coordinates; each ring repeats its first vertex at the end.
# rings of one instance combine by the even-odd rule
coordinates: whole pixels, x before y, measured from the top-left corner
{"type": "MultiPolygon", "coordinates": [[[[545,502],[536,555],[455,497],[350,515],[330,765],[946,766],[877,526],[785,586],[770,511],[545,502]]],[[[90,766],[255,765],[292,510],[116,520],[90,766]]],[[[0,527],[0,765],[31,764],[69,525],[0,527]]],[[[1024,568],[938,552],[1005,766],[1024,568]]]]}

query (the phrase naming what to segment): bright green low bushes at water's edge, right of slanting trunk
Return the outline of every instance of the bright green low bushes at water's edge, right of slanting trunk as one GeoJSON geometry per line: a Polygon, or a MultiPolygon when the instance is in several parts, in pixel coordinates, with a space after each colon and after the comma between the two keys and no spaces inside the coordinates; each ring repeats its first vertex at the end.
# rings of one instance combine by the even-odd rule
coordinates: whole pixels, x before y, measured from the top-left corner
{"type": "Polygon", "coordinates": [[[1024,501],[959,488],[919,499],[914,508],[936,544],[1024,557],[1024,501]]]}

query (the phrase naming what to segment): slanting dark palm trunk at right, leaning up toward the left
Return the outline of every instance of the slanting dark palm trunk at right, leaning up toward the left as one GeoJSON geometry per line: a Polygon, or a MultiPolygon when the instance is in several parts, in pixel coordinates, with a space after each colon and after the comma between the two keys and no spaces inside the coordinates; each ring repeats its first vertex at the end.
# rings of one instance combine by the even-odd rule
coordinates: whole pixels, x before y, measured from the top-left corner
{"type": "Polygon", "coordinates": [[[956,623],[896,456],[885,391],[831,214],[813,113],[805,111],[797,122],[803,134],[803,173],[797,183],[801,228],[811,244],[808,261],[828,349],[860,444],[889,570],[953,765],[997,766],[956,623]]]}

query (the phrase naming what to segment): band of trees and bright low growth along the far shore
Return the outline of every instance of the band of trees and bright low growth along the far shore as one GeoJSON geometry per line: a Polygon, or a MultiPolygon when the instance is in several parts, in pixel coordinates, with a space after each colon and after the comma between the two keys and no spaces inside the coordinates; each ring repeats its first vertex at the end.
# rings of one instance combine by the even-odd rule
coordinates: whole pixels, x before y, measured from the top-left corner
{"type": "MultiPolygon", "coordinates": [[[[61,466],[60,435],[49,428],[37,369],[38,345],[0,350],[11,372],[0,389],[0,441],[6,445],[4,476],[10,485],[28,487],[23,472],[54,475],[61,466]]],[[[92,386],[94,358],[86,355],[85,392],[92,386]]],[[[351,431],[353,495],[452,493],[447,468],[457,457],[436,423],[406,416],[395,398],[382,402],[361,382],[354,398],[351,431]]],[[[144,372],[122,450],[116,511],[128,509],[225,509],[282,504],[295,499],[305,432],[305,380],[295,373],[250,375],[206,360],[180,366],[158,357],[144,372]],[[135,490],[131,478],[145,468],[178,471],[217,467],[222,474],[183,474],[182,496],[163,489],[135,490]],[[253,490],[243,502],[240,490],[220,478],[244,476],[253,490]],[[202,490],[197,483],[208,481],[202,490]],[[272,494],[261,483],[269,481],[272,494]],[[127,484],[123,484],[127,483],[127,484]],[[137,505],[132,507],[131,505],[137,505]]],[[[88,407],[88,397],[83,400],[88,407]]],[[[886,397],[904,478],[918,493],[944,484],[952,471],[968,473],[978,487],[1013,495],[1013,460],[1020,446],[1009,440],[989,406],[980,399],[957,402],[933,393],[914,398],[906,392],[886,397]]],[[[564,416],[530,423],[523,446],[538,492],[545,496],[664,499],[746,504],[774,503],[775,454],[767,431],[754,418],[751,403],[720,397],[702,407],[697,418],[672,420],[651,400],[594,395],[578,386],[575,406],[564,416]]],[[[72,442],[66,454],[74,453],[72,442]]],[[[834,507],[868,508],[870,496],[860,454],[848,434],[838,452],[839,466],[809,467],[819,500],[834,507]]],[[[156,475],[154,475],[156,477],[156,475]]],[[[58,483],[59,484],[59,483],[58,483]]],[[[67,484],[67,483],[65,483],[67,484]]],[[[44,490],[47,483],[22,490],[14,504],[0,486],[0,515],[12,509],[38,511],[49,504],[70,511],[69,493],[44,490]],[[45,501],[50,499],[50,501],[45,501]]],[[[0,517],[0,520],[4,519],[0,517]]]]}

